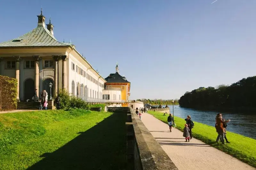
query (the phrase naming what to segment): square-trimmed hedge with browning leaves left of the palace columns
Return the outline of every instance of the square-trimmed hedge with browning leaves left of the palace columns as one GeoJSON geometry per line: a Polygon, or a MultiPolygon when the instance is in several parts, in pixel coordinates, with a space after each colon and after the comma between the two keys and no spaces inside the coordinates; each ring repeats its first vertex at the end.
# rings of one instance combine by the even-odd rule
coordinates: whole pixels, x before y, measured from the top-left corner
{"type": "Polygon", "coordinates": [[[17,86],[16,78],[0,75],[0,110],[17,109],[17,86]]]}

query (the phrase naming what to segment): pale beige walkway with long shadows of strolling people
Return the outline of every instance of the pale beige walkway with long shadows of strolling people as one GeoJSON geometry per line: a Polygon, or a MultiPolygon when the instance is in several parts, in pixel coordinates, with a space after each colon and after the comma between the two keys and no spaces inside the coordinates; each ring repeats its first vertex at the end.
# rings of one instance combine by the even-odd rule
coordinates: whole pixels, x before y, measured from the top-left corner
{"type": "Polygon", "coordinates": [[[175,128],[170,132],[167,124],[152,115],[143,113],[141,120],[179,170],[255,170],[252,166],[195,138],[184,142],[183,132],[175,128]]]}

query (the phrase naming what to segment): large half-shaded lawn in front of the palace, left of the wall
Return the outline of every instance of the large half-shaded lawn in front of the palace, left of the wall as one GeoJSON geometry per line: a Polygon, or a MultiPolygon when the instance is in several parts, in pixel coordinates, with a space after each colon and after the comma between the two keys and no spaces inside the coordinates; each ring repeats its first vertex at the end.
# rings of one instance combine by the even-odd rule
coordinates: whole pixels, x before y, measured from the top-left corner
{"type": "Polygon", "coordinates": [[[0,169],[125,169],[125,114],[0,114],[0,169]]]}

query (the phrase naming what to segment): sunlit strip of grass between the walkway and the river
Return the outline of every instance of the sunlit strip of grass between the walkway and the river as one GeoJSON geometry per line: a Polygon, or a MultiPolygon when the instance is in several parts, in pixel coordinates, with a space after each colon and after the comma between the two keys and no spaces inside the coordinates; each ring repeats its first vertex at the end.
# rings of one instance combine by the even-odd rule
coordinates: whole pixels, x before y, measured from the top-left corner
{"type": "MultiPolygon", "coordinates": [[[[154,115],[157,119],[167,123],[167,116],[164,116],[163,113],[148,111],[149,114],[154,115]]],[[[185,119],[185,118],[184,118],[185,119]]],[[[174,122],[177,125],[177,129],[183,130],[184,124],[186,121],[183,118],[174,116],[174,122]]],[[[193,121],[194,122],[194,121],[193,121]]],[[[194,122],[195,127],[192,129],[192,135],[196,139],[199,139],[206,144],[210,144],[213,147],[228,153],[248,163],[251,166],[256,167],[256,140],[245,137],[236,133],[227,131],[228,141],[230,144],[222,145],[221,143],[216,143],[216,138],[218,136],[215,127],[194,122]]]]}

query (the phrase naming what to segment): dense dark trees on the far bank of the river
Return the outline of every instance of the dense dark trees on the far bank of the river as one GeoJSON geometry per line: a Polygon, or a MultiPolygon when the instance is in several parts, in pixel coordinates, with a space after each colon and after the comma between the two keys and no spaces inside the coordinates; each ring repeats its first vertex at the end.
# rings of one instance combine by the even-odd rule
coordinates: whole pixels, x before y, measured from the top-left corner
{"type": "Polygon", "coordinates": [[[256,76],[243,78],[232,85],[199,87],[180,97],[182,107],[256,107],[256,76]]]}

